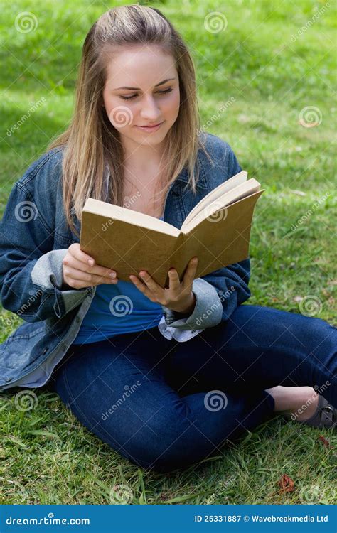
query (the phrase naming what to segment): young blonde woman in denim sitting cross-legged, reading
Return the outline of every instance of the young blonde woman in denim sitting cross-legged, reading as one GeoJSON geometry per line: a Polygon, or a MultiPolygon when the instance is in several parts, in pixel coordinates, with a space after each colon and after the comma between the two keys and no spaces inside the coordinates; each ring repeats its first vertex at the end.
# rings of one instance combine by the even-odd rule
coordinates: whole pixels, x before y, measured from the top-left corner
{"type": "Polygon", "coordinates": [[[200,132],[191,55],[164,15],[103,14],[85,38],[73,122],[14,185],[1,222],[1,300],[26,321],[0,347],[1,389],[48,383],[102,441],[159,472],[275,413],[335,427],[337,329],[242,305],[250,259],[196,279],[191,258],[164,290],[146,271],[119,281],[80,249],[89,196],[180,227],[240,170],[200,132]]]}

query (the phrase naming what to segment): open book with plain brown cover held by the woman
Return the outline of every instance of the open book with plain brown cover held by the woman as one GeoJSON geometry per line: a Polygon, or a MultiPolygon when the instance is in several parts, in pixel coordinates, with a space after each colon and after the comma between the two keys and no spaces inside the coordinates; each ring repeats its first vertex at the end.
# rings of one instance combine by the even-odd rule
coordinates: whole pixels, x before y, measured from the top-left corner
{"type": "Polygon", "coordinates": [[[189,212],[180,230],[150,215],[88,198],[82,210],[80,248],[96,264],[129,281],[146,270],[161,287],[169,287],[169,269],[180,280],[189,260],[198,257],[196,278],[249,257],[255,203],[264,189],[247,172],[232,176],[189,212]]]}

